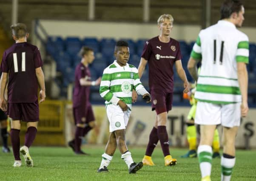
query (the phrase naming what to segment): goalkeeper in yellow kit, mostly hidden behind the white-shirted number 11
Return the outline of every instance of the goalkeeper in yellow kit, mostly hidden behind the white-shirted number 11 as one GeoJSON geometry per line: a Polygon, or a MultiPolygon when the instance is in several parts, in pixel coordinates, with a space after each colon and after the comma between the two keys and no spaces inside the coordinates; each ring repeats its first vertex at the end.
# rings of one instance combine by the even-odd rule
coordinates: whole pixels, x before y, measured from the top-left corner
{"type": "MultiPolygon", "coordinates": [[[[191,86],[192,87],[192,86],[191,86]]],[[[197,157],[196,153],[196,126],[195,126],[195,116],[196,116],[196,103],[197,100],[194,98],[194,93],[196,92],[196,88],[193,88],[191,92],[183,93],[184,99],[189,99],[191,104],[191,109],[188,113],[187,117],[187,139],[189,145],[189,151],[185,155],[182,155],[182,158],[195,158],[197,157]]],[[[214,132],[213,139],[213,158],[220,158],[219,154],[219,131],[216,129],[214,132]]]]}

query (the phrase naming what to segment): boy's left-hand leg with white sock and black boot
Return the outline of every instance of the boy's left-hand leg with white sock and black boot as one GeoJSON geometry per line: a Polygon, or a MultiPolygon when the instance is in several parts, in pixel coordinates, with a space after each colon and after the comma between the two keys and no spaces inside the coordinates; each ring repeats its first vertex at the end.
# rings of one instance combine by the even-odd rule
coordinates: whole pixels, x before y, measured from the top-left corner
{"type": "Polygon", "coordinates": [[[105,148],[105,153],[102,154],[102,161],[98,172],[108,172],[108,165],[110,164],[114,153],[117,149],[117,139],[114,132],[109,134],[108,143],[105,148]]]}

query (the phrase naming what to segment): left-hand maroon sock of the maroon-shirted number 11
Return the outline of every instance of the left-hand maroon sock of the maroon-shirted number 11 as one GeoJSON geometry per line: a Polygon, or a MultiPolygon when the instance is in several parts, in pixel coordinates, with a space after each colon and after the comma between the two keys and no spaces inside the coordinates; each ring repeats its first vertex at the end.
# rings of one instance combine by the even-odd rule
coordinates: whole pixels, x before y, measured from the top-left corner
{"type": "Polygon", "coordinates": [[[11,129],[11,145],[15,160],[20,160],[20,130],[11,129]]]}

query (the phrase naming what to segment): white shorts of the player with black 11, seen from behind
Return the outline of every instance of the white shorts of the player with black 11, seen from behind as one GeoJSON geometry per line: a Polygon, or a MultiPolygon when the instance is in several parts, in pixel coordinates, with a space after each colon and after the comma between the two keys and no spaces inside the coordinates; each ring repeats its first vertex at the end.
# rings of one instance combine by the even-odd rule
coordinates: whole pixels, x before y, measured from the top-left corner
{"type": "Polygon", "coordinates": [[[195,123],[199,125],[219,125],[232,128],[240,125],[241,103],[213,104],[197,102],[195,123]]]}

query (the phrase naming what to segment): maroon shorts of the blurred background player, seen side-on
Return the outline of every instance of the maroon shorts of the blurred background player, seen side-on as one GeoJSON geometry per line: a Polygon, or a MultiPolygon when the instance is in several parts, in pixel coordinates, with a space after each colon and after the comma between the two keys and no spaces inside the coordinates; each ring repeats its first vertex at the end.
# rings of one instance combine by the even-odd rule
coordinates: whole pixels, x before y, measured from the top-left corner
{"type": "Polygon", "coordinates": [[[85,109],[83,106],[73,108],[74,121],[76,124],[85,124],[95,120],[91,105],[85,109]]]}

